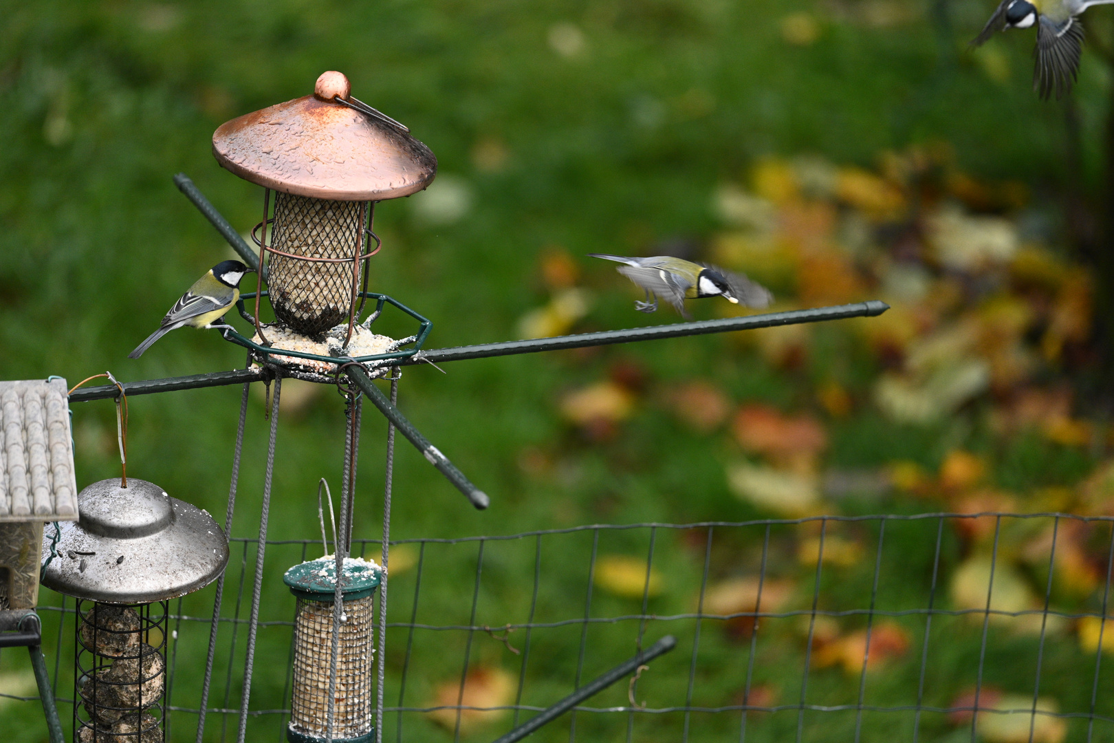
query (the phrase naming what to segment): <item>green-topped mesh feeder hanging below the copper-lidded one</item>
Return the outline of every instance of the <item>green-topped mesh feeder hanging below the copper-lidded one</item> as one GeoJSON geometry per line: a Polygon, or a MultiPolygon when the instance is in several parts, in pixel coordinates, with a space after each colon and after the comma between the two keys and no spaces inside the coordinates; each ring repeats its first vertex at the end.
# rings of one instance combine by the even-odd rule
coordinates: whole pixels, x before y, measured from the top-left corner
{"type": "Polygon", "coordinates": [[[372,740],[372,596],[382,576],[374,563],[345,557],[341,575],[343,618],[336,642],[332,730],[329,676],[332,672],[333,599],[336,560],[325,557],[295,565],[283,581],[297,597],[294,614],[293,694],[286,739],[291,743],[372,740]]]}

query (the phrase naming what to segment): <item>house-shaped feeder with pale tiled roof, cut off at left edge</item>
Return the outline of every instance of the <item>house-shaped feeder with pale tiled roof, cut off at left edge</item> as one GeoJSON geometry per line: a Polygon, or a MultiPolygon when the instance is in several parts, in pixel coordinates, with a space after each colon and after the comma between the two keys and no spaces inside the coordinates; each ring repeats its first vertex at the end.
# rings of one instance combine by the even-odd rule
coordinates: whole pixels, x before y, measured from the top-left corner
{"type": "Polygon", "coordinates": [[[30,609],[43,522],[78,517],[66,380],[0,382],[0,610],[30,609]]]}

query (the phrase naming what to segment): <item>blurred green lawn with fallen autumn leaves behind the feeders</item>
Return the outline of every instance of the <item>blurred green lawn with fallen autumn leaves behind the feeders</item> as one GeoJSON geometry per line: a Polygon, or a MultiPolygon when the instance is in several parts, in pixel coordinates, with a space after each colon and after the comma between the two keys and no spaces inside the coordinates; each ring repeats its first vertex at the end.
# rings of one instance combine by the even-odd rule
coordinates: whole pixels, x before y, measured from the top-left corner
{"type": "MultiPolygon", "coordinates": [[[[668,310],[633,312],[635,290],[588,252],[714,261],[768,284],[776,309],[866,299],[892,305],[870,320],[456,363],[447,375],[409,368],[400,405],[491,495],[492,507],[473,511],[403,444],[395,538],[819,514],[1111,515],[1103,310],[1114,173],[1105,137],[1114,129],[1110,67],[1098,52],[1112,16],[1087,12],[1094,45],[1077,89],[1042,102],[1029,85],[1029,33],[966,49],[991,10],[950,0],[8,0],[0,3],[0,374],[62,374],[75,383],[109,369],[129,381],[242,364],[236,348],[193,331],[126,359],[197,275],[231,257],[170,177],[189,175],[246,233],[260,218],[261,189],[214,163],[213,129],[306,95],[321,71],[339,69],[356,96],[410,126],[439,158],[428,192],[377,209],[383,251],[372,275],[374,291],[433,320],[431,348],[676,321],[668,310]]],[[[734,310],[715,300],[691,304],[698,319],[734,310]]],[[[265,433],[257,392],[237,537],[257,529],[265,433]]],[[[131,473],[223,514],[238,394],[131,400],[131,473]]],[[[340,481],[341,399],[290,383],[283,402],[270,536],[312,538],[316,480],[340,481]]],[[[74,421],[79,486],[110,477],[111,404],[77,405],[74,421]]],[[[365,422],[355,531],[373,538],[384,427],[373,411],[365,422]]],[[[1052,585],[1054,607],[1102,612],[1108,529],[1061,528],[1048,583],[1051,522],[1003,524],[947,525],[940,585],[950,607],[983,606],[996,555],[1004,610],[1040,608],[1052,585]]],[[[880,592],[891,592],[895,605],[924,607],[936,522],[901,532],[900,549],[887,542],[880,592]]],[[[687,534],[656,542],[657,613],[696,605],[691,588],[705,537],[687,534]]],[[[883,555],[877,525],[829,537],[825,600],[861,608],[883,555]]],[[[646,532],[606,540],[593,584],[597,610],[637,613],[646,532]]],[[[761,540],[761,530],[745,530],[715,541],[709,610],[749,610],[740,607],[754,600],[761,540]]],[[[815,525],[774,535],[774,605],[808,607],[818,540],[815,525]]],[[[593,551],[590,539],[561,544],[560,559],[543,564],[539,602],[554,620],[582,610],[593,551]]],[[[492,548],[485,567],[481,614],[492,626],[525,619],[532,579],[532,545],[508,545],[492,548]]],[[[412,590],[411,547],[399,548],[395,596],[412,590]]],[[[467,623],[471,549],[430,548],[427,575],[438,567],[423,587],[430,624],[467,623]]],[[[289,620],[293,602],[278,577],[297,553],[268,553],[273,600],[264,619],[289,620]]],[[[251,569],[251,556],[243,559],[251,569]]],[[[203,616],[211,602],[212,588],[188,597],[184,612],[203,616]]],[[[43,603],[58,597],[43,592],[43,603]]],[[[392,620],[409,619],[401,599],[392,606],[392,620]]],[[[739,704],[752,628],[705,624],[697,701],[739,704]]],[[[821,624],[811,634],[813,701],[844,703],[862,664],[863,627],[821,624]]],[[[1037,639],[1030,623],[1017,624],[990,627],[983,698],[1003,708],[1033,700],[1037,639]]],[[[1087,710],[1102,625],[1083,618],[1046,628],[1040,708],[1087,710]]],[[[632,626],[616,626],[593,634],[586,677],[633,649],[632,626]]],[[[206,630],[186,629],[175,694],[189,706],[206,630]]],[[[922,627],[876,629],[871,663],[881,669],[872,688],[886,703],[910,703],[919,661],[910,648],[922,627]]],[[[941,632],[929,696],[940,707],[962,706],[975,683],[978,627],[957,619],[941,632]]],[[[655,665],[651,677],[661,685],[641,687],[651,706],[683,698],[688,633],[676,657],[655,665]]],[[[761,683],[749,698],[790,704],[810,634],[788,620],[771,623],[770,633],[776,642],[758,656],[761,683]]],[[[455,701],[463,642],[419,635],[409,704],[455,701]]],[[[476,704],[507,704],[518,658],[485,642],[466,691],[476,704]]],[[[547,635],[525,702],[544,705],[567,692],[578,642],[578,630],[547,635]]],[[[391,684],[403,643],[404,635],[390,636],[391,684]]],[[[275,668],[287,648],[287,629],[261,634],[253,706],[282,705],[275,668]]],[[[26,693],[25,666],[6,653],[0,691],[26,693]]],[[[67,683],[63,669],[61,688],[67,683]]],[[[609,694],[608,704],[625,703],[625,690],[609,694]]],[[[194,717],[179,716],[173,740],[193,740],[194,717]]],[[[697,739],[737,736],[737,717],[727,716],[694,717],[697,739]]],[[[0,717],[13,742],[45,740],[35,705],[0,700],[0,717]]],[[[589,737],[626,730],[625,716],[614,730],[588,717],[578,724],[589,737]]],[[[1028,740],[1024,717],[1020,739],[1009,724],[986,723],[981,734],[1028,740]]],[[[446,732],[437,715],[411,718],[408,740],[451,739],[452,721],[446,732]]],[[[467,720],[465,739],[476,741],[509,724],[506,715],[467,720]]],[[[850,734],[843,717],[808,720],[808,740],[850,734]]],[[[891,733],[888,720],[869,717],[863,730],[891,733]]],[[[1037,741],[1086,733],[1082,723],[1036,720],[1037,741]]],[[[747,735],[784,740],[795,723],[793,711],[755,716],[747,735]]],[[[677,740],[686,724],[666,715],[635,730],[638,740],[677,740]]],[[[925,724],[936,740],[969,734],[961,714],[925,724]]],[[[280,735],[273,717],[252,725],[280,735]]],[[[219,727],[213,722],[207,740],[222,740],[219,727]]],[[[567,723],[551,727],[544,740],[567,734],[567,723]]]]}

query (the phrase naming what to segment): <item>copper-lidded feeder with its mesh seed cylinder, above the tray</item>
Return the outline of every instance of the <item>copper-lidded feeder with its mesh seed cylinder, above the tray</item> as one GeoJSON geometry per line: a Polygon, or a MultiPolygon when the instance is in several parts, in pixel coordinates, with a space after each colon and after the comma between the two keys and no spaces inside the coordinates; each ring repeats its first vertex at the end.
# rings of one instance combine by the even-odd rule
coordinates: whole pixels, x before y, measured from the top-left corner
{"type": "MultiPolygon", "coordinates": [[[[312,96],[222,125],[213,134],[213,154],[223,167],[264,187],[263,221],[252,238],[260,265],[266,265],[275,317],[316,340],[346,325],[348,348],[363,310],[369,260],[381,246],[372,232],[374,204],[426,188],[437,174],[433,153],[352,97],[348,78],[330,71],[317,78],[312,96]]],[[[254,321],[266,344],[258,320],[263,273],[254,321]]]]}

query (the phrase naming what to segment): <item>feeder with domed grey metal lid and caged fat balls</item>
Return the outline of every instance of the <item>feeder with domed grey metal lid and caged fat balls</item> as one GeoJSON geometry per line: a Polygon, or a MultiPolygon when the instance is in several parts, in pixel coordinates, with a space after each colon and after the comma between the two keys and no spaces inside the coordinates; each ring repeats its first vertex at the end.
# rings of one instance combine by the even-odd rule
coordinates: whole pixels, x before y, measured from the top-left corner
{"type": "Polygon", "coordinates": [[[42,577],[77,599],[74,740],[162,743],[168,603],[216,578],[228,542],[208,514],[146,480],[94,482],[77,500],[42,577]]]}

